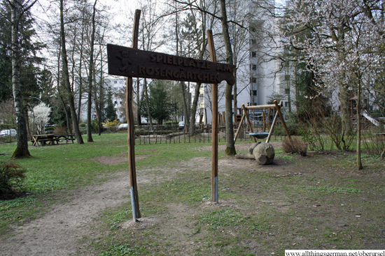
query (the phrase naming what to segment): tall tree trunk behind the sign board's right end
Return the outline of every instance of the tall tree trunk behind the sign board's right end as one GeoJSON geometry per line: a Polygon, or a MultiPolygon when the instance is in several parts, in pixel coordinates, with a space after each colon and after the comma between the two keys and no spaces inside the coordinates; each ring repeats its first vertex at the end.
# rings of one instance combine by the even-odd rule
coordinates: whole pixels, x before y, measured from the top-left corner
{"type": "MultiPolygon", "coordinates": [[[[221,2],[222,33],[223,33],[223,40],[225,41],[225,48],[226,48],[226,62],[232,65],[233,64],[232,49],[231,49],[225,0],[220,0],[220,2],[221,2]]],[[[225,111],[226,111],[226,155],[234,156],[237,152],[235,151],[234,129],[232,127],[232,86],[228,83],[226,83],[226,89],[225,89],[225,111]]]]}

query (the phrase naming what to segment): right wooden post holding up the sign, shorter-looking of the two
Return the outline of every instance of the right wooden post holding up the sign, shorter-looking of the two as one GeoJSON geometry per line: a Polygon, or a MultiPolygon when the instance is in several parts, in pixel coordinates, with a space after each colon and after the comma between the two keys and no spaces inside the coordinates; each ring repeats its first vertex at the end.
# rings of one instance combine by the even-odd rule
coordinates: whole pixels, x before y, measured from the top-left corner
{"type": "MultiPolygon", "coordinates": [[[[216,62],[213,32],[207,30],[211,61],[216,62]]],[[[213,127],[211,142],[211,202],[218,204],[218,84],[211,84],[211,101],[213,107],[213,127]]]]}

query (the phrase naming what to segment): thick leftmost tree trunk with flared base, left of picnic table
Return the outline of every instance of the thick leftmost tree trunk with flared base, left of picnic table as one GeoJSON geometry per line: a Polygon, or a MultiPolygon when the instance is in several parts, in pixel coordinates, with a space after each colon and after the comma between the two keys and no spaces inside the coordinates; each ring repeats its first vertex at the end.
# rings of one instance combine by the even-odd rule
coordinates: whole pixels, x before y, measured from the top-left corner
{"type": "Polygon", "coordinates": [[[18,121],[18,143],[12,158],[30,158],[31,154],[28,150],[27,126],[25,122],[24,107],[22,103],[22,91],[20,89],[20,45],[18,18],[22,15],[19,3],[13,0],[11,6],[11,23],[12,23],[12,90],[13,100],[15,100],[15,110],[18,121]]]}

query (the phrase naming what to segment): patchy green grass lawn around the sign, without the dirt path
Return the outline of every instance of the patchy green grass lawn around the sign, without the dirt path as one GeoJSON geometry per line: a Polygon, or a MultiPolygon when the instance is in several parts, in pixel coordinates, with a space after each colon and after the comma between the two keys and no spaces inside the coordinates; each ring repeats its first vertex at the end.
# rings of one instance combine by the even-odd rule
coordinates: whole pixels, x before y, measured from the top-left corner
{"type": "MultiPolygon", "coordinates": [[[[15,160],[27,172],[30,195],[0,201],[0,234],[41,218],[67,195],[124,176],[127,135],[94,135],[94,143],[30,147],[15,160]]],[[[237,151],[246,153],[245,142],[237,151]]],[[[212,204],[211,144],[136,146],[141,222],[126,202],[97,214],[79,255],[283,255],[288,249],[384,249],[385,160],[354,152],[276,149],[273,165],[219,151],[219,199],[212,204]]],[[[0,160],[15,144],[0,144],[0,160]]]]}

